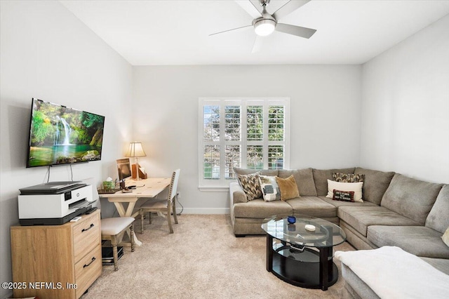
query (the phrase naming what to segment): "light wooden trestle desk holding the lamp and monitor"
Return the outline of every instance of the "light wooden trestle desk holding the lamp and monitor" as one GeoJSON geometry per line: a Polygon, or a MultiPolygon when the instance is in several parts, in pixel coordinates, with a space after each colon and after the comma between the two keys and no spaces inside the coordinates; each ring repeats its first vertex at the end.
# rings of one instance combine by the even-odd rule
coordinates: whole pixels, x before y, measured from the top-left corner
{"type": "MultiPolygon", "coordinates": [[[[121,191],[114,194],[99,194],[101,198],[107,198],[109,202],[114,203],[120,217],[133,217],[139,215],[139,212],[134,211],[135,203],[140,198],[156,197],[159,193],[166,190],[166,187],[170,186],[171,178],[146,178],[145,180],[128,180],[126,186],[136,185],[138,186],[133,192],[123,193],[121,191]],[[140,187],[142,186],[142,187],[140,187]],[[125,208],[125,204],[128,206],[125,208]]],[[[135,244],[142,245],[142,242],[135,237],[135,244]]]]}

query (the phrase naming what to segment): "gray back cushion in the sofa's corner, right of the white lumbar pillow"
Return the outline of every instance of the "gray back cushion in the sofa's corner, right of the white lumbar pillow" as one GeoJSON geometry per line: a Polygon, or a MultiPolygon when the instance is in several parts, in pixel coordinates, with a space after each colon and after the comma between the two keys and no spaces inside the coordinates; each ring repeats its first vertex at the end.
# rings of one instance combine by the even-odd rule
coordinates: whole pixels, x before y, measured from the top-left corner
{"type": "Polygon", "coordinates": [[[372,171],[370,169],[357,167],[354,173],[365,175],[362,187],[363,200],[370,201],[373,204],[380,206],[382,196],[384,196],[384,193],[393,178],[394,172],[372,171]]]}

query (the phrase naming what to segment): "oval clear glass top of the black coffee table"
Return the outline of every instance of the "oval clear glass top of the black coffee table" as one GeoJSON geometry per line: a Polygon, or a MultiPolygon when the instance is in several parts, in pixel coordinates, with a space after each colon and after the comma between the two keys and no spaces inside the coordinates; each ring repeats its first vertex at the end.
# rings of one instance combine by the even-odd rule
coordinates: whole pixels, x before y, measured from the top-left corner
{"type": "Polygon", "coordinates": [[[316,248],[336,246],[346,240],[338,225],[307,215],[273,215],[264,220],[262,230],[281,241],[316,248]]]}

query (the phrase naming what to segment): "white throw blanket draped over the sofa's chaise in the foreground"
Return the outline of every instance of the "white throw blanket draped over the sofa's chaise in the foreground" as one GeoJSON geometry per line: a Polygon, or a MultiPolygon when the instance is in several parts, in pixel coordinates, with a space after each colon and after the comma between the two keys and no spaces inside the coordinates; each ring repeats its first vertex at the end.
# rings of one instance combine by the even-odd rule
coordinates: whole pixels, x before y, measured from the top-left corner
{"type": "Polygon", "coordinates": [[[449,275],[399,247],[337,251],[335,258],[380,298],[449,298],[449,275]]]}

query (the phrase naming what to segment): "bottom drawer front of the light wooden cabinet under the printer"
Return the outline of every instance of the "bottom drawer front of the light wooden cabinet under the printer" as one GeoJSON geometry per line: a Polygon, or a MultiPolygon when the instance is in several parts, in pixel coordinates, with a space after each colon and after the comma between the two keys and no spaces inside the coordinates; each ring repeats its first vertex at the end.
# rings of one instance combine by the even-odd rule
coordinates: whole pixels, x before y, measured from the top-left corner
{"type": "Polygon", "coordinates": [[[76,298],[81,297],[102,272],[101,246],[86,254],[75,264],[76,298]]]}

